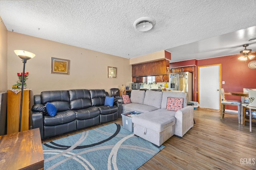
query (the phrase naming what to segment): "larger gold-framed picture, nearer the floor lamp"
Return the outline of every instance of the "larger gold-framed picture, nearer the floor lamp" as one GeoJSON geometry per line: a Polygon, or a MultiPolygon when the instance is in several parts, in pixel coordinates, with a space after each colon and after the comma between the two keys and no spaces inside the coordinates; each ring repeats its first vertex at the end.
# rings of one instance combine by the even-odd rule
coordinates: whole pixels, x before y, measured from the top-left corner
{"type": "Polygon", "coordinates": [[[52,57],[52,71],[53,74],[68,74],[69,75],[70,60],[52,57]]]}

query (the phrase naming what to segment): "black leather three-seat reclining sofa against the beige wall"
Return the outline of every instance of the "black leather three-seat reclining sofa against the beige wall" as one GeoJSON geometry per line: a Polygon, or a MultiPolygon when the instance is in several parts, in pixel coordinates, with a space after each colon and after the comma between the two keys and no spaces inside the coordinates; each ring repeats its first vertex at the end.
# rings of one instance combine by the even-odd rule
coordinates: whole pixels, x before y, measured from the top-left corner
{"type": "Polygon", "coordinates": [[[104,89],[42,91],[34,95],[33,128],[40,128],[41,138],[46,139],[120,118],[122,104],[114,101],[113,107],[105,106],[106,96],[104,89]],[[47,102],[57,109],[54,117],[47,114],[47,102]]]}

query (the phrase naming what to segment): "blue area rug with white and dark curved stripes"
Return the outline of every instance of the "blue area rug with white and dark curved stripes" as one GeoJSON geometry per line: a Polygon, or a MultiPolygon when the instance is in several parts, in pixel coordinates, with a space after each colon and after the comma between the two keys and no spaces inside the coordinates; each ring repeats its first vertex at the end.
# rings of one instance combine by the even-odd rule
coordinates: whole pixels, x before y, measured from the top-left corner
{"type": "Polygon", "coordinates": [[[112,123],[43,144],[45,170],[135,170],[162,150],[112,123]]]}

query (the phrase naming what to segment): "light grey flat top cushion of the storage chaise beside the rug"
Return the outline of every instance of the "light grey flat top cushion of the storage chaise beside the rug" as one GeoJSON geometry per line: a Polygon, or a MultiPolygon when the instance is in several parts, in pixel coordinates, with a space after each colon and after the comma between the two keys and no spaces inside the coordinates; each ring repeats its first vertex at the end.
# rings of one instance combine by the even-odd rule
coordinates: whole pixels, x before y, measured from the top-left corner
{"type": "Polygon", "coordinates": [[[158,111],[154,113],[142,113],[132,117],[132,123],[141,125],[145,128],[152,129],[156,132],[162,132],[165,128],[170,127],[176,123],[175,117],[168,113],[158,111]]]}

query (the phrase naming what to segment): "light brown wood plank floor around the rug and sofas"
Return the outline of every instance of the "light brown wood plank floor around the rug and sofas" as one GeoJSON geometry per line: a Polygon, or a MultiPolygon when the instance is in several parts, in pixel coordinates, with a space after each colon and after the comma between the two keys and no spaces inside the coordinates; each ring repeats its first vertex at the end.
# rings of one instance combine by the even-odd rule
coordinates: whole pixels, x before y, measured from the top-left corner
{"type": "MultiPolygon", "coordinates": [[[[239,125],[237,115],[225,114],[220,120],[220,112],[200,108],[194,110],[194,120],[196,124],[183,138],[172,136],[164,142],[166,147],[139,170],[256,170],[255,122],[252,123],[252,132],[249,132],[249,123],[246,122],[246,126],[239,125]]],[[[111,123],[122,125],[122,119],[85,130],[111,123]]]]}

